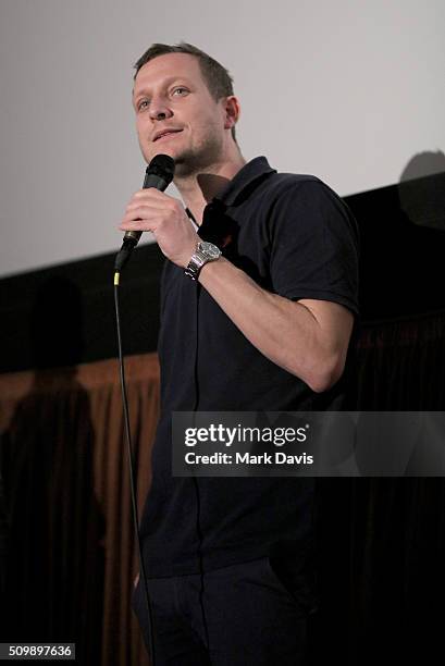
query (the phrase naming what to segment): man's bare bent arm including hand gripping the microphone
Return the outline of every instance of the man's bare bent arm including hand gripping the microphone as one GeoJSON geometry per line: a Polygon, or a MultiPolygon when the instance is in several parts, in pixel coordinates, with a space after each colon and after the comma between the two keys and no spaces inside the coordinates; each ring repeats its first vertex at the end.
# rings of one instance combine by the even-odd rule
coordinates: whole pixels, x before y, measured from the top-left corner
{"type": "MultiPolygon", "coordinates": [[[[165,257],[183,269],[200,240],[181,201],[154,188],[134,195],[120,229],[151,231],[165,257]]],[[[201,269],[199,282],[255,347],[312,391],[326,391],[339,379],[354,321],[347,308],[271,294],[223,257],[201,269]]]]}

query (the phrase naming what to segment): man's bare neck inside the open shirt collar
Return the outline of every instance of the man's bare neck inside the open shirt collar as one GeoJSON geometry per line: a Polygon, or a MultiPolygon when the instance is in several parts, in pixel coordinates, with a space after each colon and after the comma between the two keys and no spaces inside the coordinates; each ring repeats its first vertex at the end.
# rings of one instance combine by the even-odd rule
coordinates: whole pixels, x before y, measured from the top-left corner
{"type": "Polygon", "coordinates": [[[239,153],[230,161],[213,164],[202,170],[202,173],[183,178],[175,177],[174,184],[198,225],[202,222],[203,209],[207,203],[226,187],[244,164],[246,164],[246,160],[239,153]]]}

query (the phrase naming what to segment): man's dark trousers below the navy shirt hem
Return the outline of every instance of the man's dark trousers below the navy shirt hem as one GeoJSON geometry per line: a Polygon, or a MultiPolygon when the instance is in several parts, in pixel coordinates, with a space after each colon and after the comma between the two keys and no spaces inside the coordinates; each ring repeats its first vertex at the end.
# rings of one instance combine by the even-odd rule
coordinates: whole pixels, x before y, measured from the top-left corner
{"type": "MultiPolygon", "coordinates": [[[[156,666],[302,666],[310,581],[269,557],[206,574],[148,580],[156,666]]],[[[148,648],[141,580],[133,608],[148,648]]]]}

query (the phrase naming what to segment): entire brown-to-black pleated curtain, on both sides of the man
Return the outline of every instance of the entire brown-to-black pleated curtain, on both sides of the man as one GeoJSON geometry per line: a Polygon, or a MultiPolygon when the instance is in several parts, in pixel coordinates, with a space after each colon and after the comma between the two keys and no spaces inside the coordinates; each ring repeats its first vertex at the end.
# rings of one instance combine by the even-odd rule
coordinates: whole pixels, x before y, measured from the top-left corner
{"type": "MultiPolygon", "coordinates": [[[[363,325],[357,410],[442,410],[445,312],[363,325]]],[[[128,357],[139,508],[159,409],[153,354],[128,357]]],[[[76,641],[77,663],[148,664],[118,365],[0,375],[1,641],[76,641]]],[[[429,663],[444,613],[441,478],[318,480],[312,664],[429,663]]]]}

